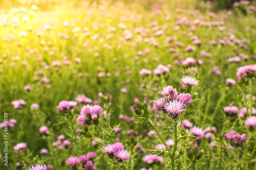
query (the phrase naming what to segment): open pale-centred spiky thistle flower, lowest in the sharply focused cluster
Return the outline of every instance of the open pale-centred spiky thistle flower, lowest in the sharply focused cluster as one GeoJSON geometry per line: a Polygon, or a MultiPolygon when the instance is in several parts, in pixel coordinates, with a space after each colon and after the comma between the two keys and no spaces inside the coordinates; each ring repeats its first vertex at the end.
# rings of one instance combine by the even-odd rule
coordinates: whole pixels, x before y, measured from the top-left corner
{"type": "Polygon", "coordinates": [[[170,114],[172,118],[175,118],[176,116],[180,116],[180,114],[186,109],[185,104],[183,102],[174,100],[165,104],[164,110],[166,113],[170,114]]]}

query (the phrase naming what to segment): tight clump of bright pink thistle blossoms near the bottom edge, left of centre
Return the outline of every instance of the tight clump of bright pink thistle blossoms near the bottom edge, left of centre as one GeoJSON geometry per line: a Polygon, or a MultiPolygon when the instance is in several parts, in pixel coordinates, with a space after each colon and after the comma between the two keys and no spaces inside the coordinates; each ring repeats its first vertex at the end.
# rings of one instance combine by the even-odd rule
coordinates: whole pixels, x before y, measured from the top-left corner
{"type": "Polygon", "coordinates": [[[108,153],[111,157],[116,158],[119,162],[130,160],[131,153],[125,150],[123,144],[120,142],[108,144],[103,148],[103,153],[108,153]]]}

